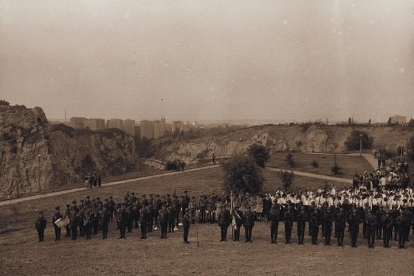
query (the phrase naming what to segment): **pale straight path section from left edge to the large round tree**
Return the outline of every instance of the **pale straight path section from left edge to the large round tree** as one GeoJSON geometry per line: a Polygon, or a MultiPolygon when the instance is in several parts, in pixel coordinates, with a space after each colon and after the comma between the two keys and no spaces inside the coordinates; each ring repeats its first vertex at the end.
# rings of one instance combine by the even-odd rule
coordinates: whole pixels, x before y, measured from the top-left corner
{"type": "MultiPolygon", "coordinates": [[[[167,172],[167,173],[162,173],[162,174],[159,174],[159,175],[148,175],[146,177],[137,177],[137,178],[126,179],[126,180],[121,180],[121,181],[108,182],[108,183],[102,184],[102,186],[106,187],[106,186],[113,186],[113,185],[119,185],[119,184],[126,184],[126,183],[130,183],[130,182],[134,182],[134,181],[152,179],[152,178],[157,178],[157,177],[167,177],[167,176],[171,176],[171,175],[177,175],[179,173],[194,172],[196,170],[206,170],[208,168],[216,168],[218,166],[219,165],[212,165],[212,166],[205,166],[205,167],[200,167],[200,168],[190,168],[188,170],[185,170],[184,172],[167,172]]],[[[15,204],[15,203],[19,203],[19,202],[23,202],[23,201],[29,201],[29,200],[33,200],[33,199],[41,199],[41,198],[44,198],[44,197],[54,197],[55,195],[65,195],[65,194],[68,194],[68,193],[79,192],[81,190],[86,190],[86,188],[84,186],[82,186],[82,187],[79,187],[79,188],[73,188],[73,189],[68,189],[68,190],[59,190],[57,192],[52,192],[52,193],[32,195],[30,197],[21,197],[21,198],[17,198],[17,199],[8,199],[8,200],[5,200],[5,201],[0,201],[0,206],[6,206],[6,205],[9,205],[9,204],[15,204]]]]}

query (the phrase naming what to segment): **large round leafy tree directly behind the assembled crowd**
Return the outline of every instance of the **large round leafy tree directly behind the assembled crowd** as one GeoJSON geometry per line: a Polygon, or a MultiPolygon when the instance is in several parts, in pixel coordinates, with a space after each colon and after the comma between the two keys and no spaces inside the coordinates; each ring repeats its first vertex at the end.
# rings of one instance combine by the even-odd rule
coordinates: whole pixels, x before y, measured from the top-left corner
{"type": "Polygon", "coordinates": [[[246,155],[233,155],[221,164],[224,173],[224,191],[226,193],[260,193],[264,178],[255,159],[246,155]]]}

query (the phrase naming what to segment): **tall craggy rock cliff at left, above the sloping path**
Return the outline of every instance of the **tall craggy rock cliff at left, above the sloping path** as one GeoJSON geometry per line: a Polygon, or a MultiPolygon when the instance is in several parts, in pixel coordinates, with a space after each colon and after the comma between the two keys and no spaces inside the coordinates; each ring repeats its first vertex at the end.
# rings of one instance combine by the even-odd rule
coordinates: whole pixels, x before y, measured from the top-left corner
{"type": "Polygon", "coordinates": [[[135,144],[117,129],[51,125],[41,108],[0,106],[0,198],[134,170],[135,144]]]}

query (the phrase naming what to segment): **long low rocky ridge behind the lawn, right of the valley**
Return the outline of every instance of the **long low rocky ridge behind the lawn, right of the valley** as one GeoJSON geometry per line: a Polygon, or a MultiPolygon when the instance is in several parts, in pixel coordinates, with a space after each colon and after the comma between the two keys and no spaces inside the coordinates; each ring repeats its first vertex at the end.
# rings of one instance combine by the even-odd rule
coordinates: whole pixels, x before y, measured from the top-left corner
{"type": "MultiPolygon", "coordinates": [[[[357,126],[358,130],[374,137],[373,148],[396,150],[400,140],[414,136],[414,128],[357,126]]],[[[352,126],[256,126],[231,132],[224,137],[210,137],[192,141],[177,141],[157,152],[156,158],[166,161],[184,159],[193,164],[202,159],[227,157],[234,152],[246,152],[252,144],[262,144],[270,152],[300,151],[346,152],[344,142],[351,135],[352,126]]]]}

